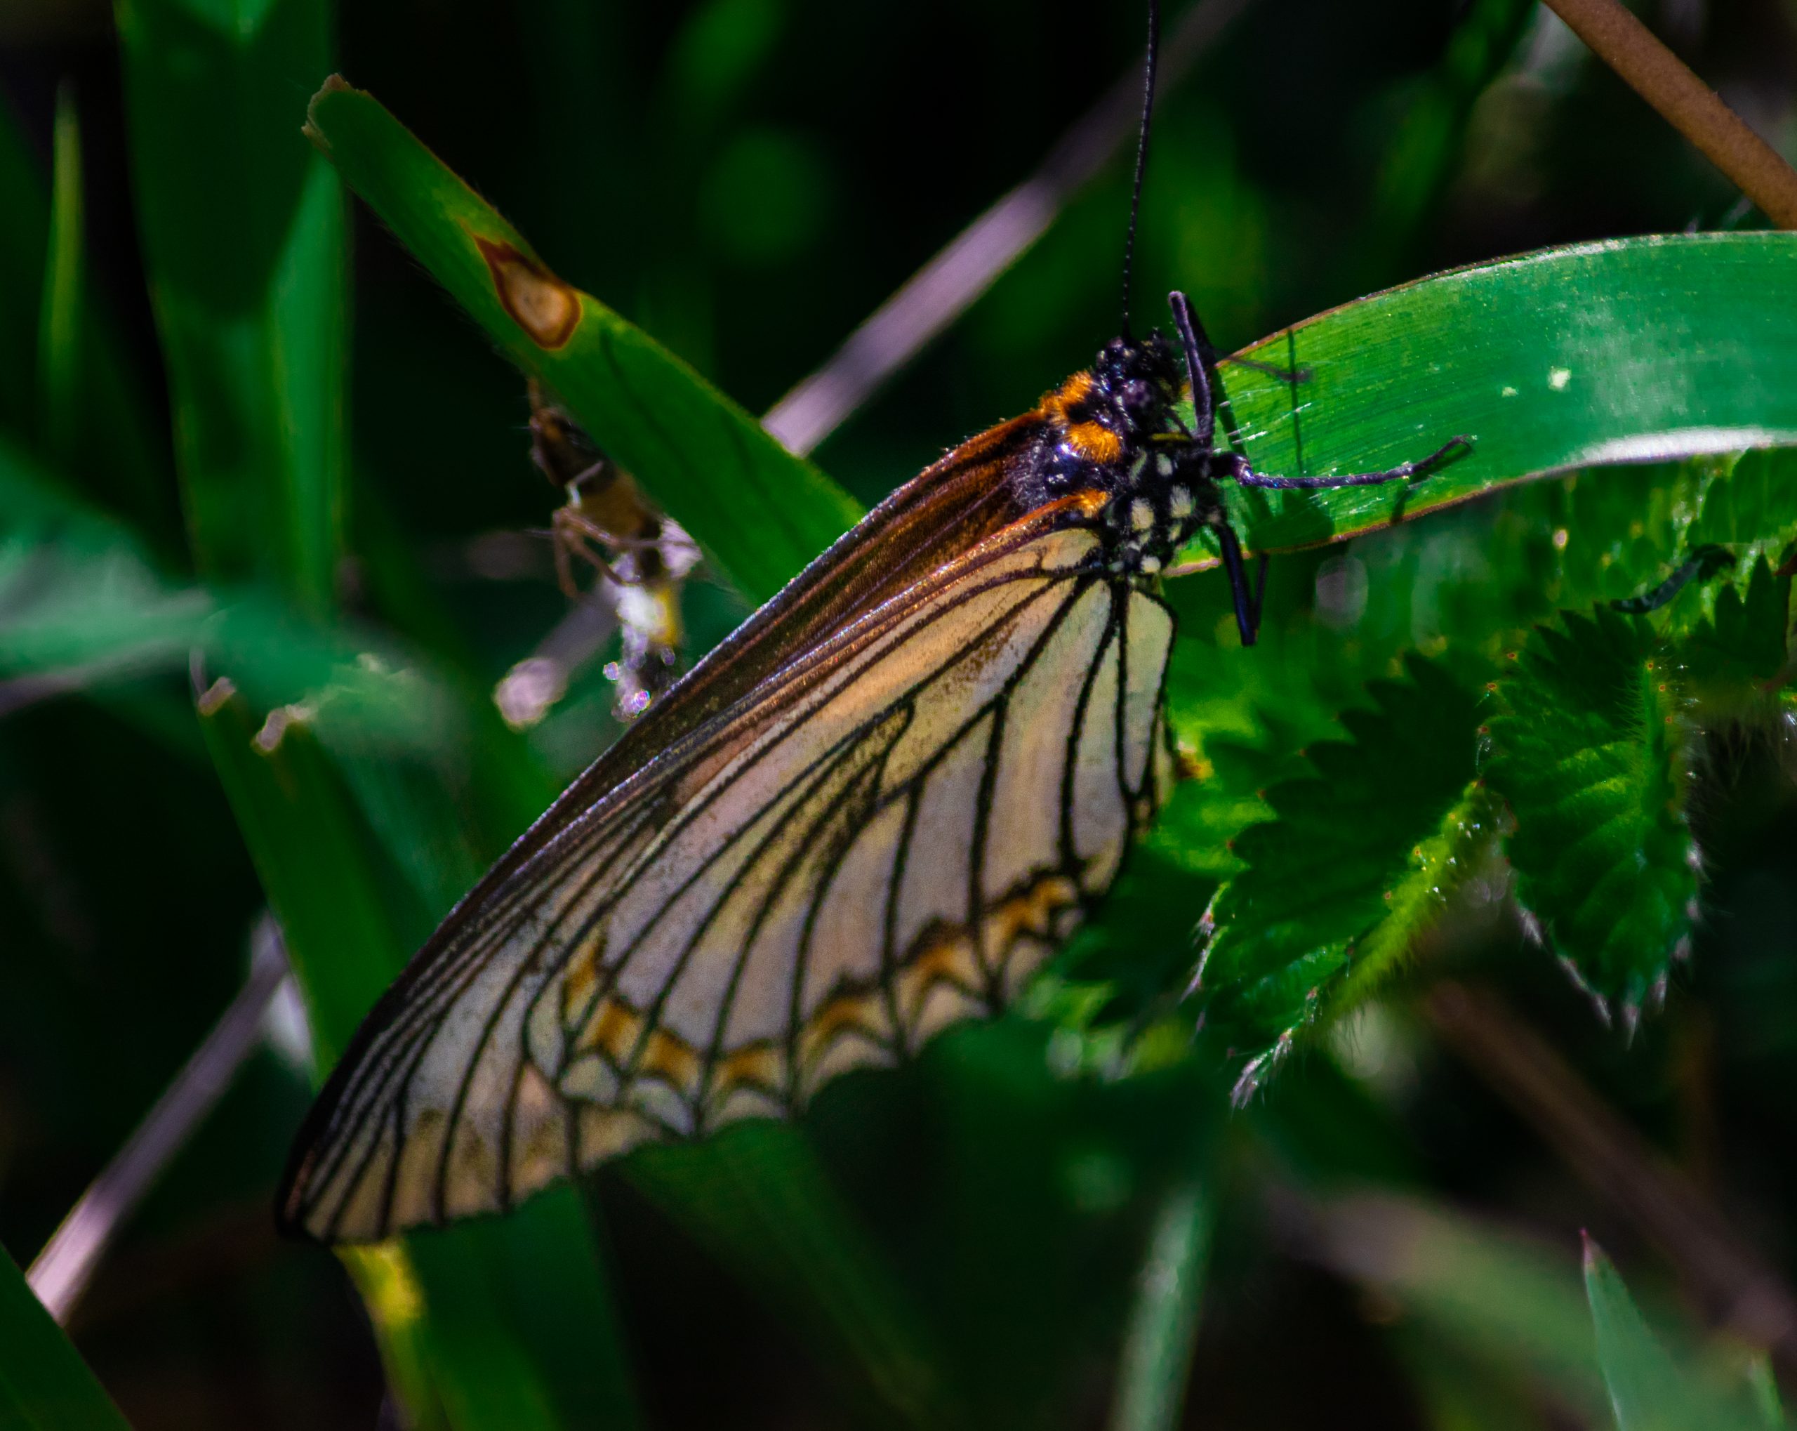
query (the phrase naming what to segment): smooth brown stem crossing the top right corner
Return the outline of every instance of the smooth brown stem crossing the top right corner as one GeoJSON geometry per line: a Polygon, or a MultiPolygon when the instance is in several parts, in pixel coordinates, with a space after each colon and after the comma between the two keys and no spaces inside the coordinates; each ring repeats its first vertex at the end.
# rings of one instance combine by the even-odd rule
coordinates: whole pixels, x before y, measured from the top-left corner
{"type": "Polygon", "coordinates": [[[1797,169],[1619,0],[1545,0],[1592,54],[1695,144],[1779,228],[1797,228],[1797,169]]]}

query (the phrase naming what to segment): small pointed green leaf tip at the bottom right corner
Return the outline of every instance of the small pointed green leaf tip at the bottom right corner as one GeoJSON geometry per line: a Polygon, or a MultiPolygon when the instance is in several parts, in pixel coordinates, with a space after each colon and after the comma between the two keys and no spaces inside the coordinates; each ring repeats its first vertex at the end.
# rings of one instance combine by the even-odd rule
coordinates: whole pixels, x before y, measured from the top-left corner
{"type": "MultiPolygon", "coordinates": [[[[1610,1391],[1616,1431],[1748,1431],[1754,1417],[1743,1415],[1738,1397],[1680,1366],[1660,1347],[1635,1307],[1616,1264],[1585,1237],[1585,1296],[1598,1336],[1598,1364],[1610,1391]]],[[[1763,1422],[1761,1422],[1763,1424],[1763,1422]]]]}

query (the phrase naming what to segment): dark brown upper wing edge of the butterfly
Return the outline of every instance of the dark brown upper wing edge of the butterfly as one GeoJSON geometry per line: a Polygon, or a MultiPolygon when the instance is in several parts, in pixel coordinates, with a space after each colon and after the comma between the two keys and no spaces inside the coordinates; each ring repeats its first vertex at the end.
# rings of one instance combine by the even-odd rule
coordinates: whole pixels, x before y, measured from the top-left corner
{"type": "Polygon", "coordinates": [[[1006,476],[1012,462],[1035,449],[1040,433],[1040,419],[1033,413],[1001,422],[898,487],[670,687],[456,901],[363,1018],[307,1109],[275,1194],[275,1224],[284,1235],[309,1237],[304,1190],[350,1071],[491,893],[561,834],[571,816],[753,690],[780,665],[1026,516],[1006,476]]]}

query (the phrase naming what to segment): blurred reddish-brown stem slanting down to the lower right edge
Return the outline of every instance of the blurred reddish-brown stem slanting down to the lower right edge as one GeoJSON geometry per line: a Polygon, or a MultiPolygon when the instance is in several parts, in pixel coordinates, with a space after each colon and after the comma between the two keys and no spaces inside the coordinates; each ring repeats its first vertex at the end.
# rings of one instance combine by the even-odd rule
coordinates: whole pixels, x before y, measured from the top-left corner
{"type": "Polygon", "coordinates": [[[1673,1262],[1723,1325],[1797,1375],[1797,1298],[1677,1167],[1495,996],[1443,983],[1423,1009],[1443,1043],[1673,1262]]]}

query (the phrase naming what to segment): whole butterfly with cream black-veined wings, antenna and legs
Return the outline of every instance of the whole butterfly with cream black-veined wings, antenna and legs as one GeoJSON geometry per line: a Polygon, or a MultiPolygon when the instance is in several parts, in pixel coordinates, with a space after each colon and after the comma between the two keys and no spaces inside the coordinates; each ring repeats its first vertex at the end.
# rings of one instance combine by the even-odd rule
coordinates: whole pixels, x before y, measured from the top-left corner
{"type": "MultiPolygon", "coordinates": [[[[1143,138],[1154,93],[1150,7],[1143,138]]],[[[1136,203],[1129,234],[1134,237],[1136,203]]],[[[1125,300],[1129,246],[1125,246],[1125,300]]],[[[498,1212],[645,1140],[785,1116],[999,1010],[1173,780],[1159,579],[1215,534],[1217,354],[1123,336],[875,507],[667,690],[449,913],[295,1145],[289,1231],[498,1212]],[[1184,374],[1179,358],[1184,358],[1184,374]],[[1190,385],[1193,424],[1177,404],[1190,385]]]]}

